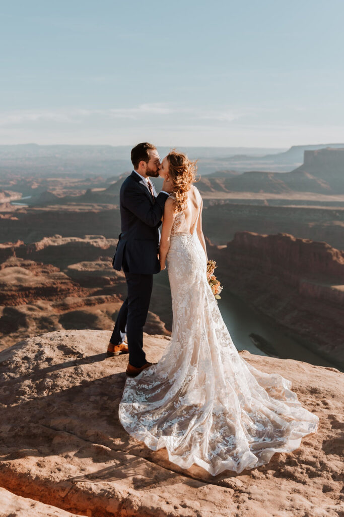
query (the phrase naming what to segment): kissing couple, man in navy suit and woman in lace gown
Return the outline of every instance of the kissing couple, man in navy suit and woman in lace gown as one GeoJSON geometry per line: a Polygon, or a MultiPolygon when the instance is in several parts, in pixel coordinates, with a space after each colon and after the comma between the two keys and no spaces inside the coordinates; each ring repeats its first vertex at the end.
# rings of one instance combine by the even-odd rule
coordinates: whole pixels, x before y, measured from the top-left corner
{"type": "Polygon", "coordinates": [[[208,283],[195,162],[173,150],[160,163],[149,143],[135,146],[131,158],[112,263],[124,270],[127,297],[107,351],[129,354],[119,406],[124,429],[150,449],[166,448],[179,467],[196,464],[213,476],[297,449],[303,436],[317,431],[319,418],[301,406],[288,379],[261,372],[238,354],[208,283]],[[150,178],[158,175],[163,185],[156,194],[150,178]],[[172,335],[159,362],[151,363],[143,326],[153,275],[166,261],[172,335]]]}

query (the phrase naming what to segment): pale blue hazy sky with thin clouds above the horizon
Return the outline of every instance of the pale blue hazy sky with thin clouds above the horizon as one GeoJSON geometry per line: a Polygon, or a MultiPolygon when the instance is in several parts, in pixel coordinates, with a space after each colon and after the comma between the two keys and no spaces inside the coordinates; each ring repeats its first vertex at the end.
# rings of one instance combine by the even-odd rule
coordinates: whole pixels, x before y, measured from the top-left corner
{"type": "Polygon", "coordinates": [[[13,0],[0,19],[0,143],[344,142],[343,0],[13,0]]]}

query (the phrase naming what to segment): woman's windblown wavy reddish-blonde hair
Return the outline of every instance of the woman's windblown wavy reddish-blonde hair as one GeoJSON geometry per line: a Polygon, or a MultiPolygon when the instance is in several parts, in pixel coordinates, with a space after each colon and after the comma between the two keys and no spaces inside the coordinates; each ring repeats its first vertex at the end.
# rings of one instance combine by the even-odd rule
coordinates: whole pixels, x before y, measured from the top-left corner
{"type": "Polygon", "coordinates": [[[175,149],[172,149],[171,153],[167,155],[167,161],[169,162],[169,175],[173,184],[175,210],[181,212],[185,208],[187,192],[196,181],[196,161],[190,161],[184,153],[177,153],[175,149]]]}

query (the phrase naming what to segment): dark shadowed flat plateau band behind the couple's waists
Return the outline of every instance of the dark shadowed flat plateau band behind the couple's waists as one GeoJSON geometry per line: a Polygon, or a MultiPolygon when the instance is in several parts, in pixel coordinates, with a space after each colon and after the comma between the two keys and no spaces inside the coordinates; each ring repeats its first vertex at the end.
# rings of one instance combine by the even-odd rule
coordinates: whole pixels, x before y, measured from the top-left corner
{"type": "MultiPolygon", "coordinates": [[[[118,187],[117,187],[118,188],[118,187]]],[[[216,194],[216,193],[215,193],[216,194]]],[[[226,244],[237,231],[256,233],[289,233],[296,237],[326,241],[334,248],[344,249],[344,206],[324,201],[325,206],[297,206],[295,201],[214,199],[214,193],[203,193],[204,233],[216,244],[226,244]],[[208,197],[209,196],[209,197],[208,197]],[[223,223],[219,224],[219,221],[223,223]]],[[[266,196],[267,194],[265,194],[266,196]]],[[[327,196],[329,197],[329,196],[327,196]]],[[[112,200],[113,201],[113,200],[112,200]]],[[[114,201],[113,201],[114,203],[114,201]]],[[[117,238],[121,231],[117,204],[76,202],[46,206],[0,205],[0,242],[35,242],[55,234],[63,237],[103,235],[117,238]]],[[[302,202],[304,203],[304,201],[302,202]]],[[[315,203],[316,206],[313,205],[315,203]]],[[[343,196],[344,203],[344,196],[343,196]]]]}

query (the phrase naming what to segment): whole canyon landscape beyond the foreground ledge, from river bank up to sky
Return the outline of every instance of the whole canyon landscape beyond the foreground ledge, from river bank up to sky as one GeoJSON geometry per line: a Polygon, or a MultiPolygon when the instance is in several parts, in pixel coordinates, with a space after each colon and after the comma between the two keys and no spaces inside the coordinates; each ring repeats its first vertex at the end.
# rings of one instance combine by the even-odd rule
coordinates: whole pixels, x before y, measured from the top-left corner
{"type": "MultiPolygon", "coordinates": [[[[339,368],[344,281],[340,267],[337,277],[331,268],[340,264],[344,250],[342,147],[293,146],[260,156],[254,156],[254,150],[243,156],[226,155],[226,149],[204,149],[200,163],[205,166],[212,160],[213,170],[202,173],[196,183],[204,199],[208,254],[218,261],[225,289],[339,368]],[[226,168],[231,160],[297,167],[283,173],[242,172],[226,168]],[[332,262],[326,262],[325,255],[331,253],[332,262]],[[300,269],[303,254],[308,264],[305,271],[300,269]],[[321,264],[319,270],[314,256],[321,264]]],[[[113,326],[125,297],[123,274],[111,268],[111,260],[120,233],[119,191],[126,174],[122,168],[122,174],[113,170],[112,176],[92,176],[99,171],[90,167],[97,160],[100,168],[107,168],[111,160],[124,160],[127,149],[117,151],[111,146],[0,146],[5,163],[0,178],[2,348],[35,332],[73,325],[107,330],[113,326]],[[74,160],[79,172],[71,169],[74,172],[68,175],[58,169],[63,157],[71,160],[68,163],[74,160]],[[25,164],[30,169],[36,158],[37,170],[31,174],[25,164]],[[89,168],[81,173],[80,164],[87,159],[89,168]],[[11,170],[14,165],[17,169],[11,170]],[[11,200],[20,194],[26,206],[11,200]]],[[[154,181],[159,190],[161,180],[154,181]]],[[[169,334],[171,323],[164,272],[155,279],[145,330],[169,334]]]]}

